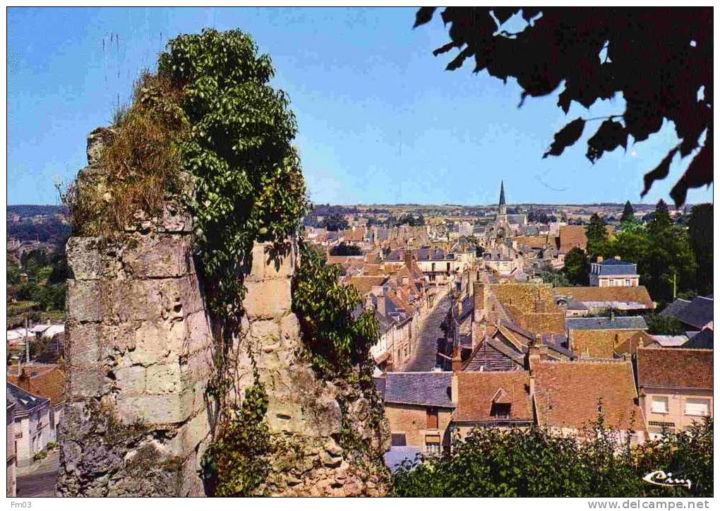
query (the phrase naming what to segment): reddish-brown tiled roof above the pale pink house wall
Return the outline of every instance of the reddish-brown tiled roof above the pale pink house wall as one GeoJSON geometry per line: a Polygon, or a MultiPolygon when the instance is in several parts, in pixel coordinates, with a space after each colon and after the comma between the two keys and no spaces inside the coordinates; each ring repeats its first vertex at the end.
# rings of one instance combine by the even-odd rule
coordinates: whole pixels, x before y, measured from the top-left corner
{"type": "Polygon", "coordinates": [[[637,351],[638,386],[713,388],[713,351],[642,348],[637,351]]]}

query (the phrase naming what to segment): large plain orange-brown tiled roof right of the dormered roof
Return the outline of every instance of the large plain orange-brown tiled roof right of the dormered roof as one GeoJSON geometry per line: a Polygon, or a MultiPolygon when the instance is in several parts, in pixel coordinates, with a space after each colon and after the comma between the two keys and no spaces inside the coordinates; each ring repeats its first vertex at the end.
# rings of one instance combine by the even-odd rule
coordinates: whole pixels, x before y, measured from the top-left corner
{"type": "Polygon", "coordinates": [[[598,417],[598,400],[608,425],[645,430],[629,361],[541,361],[536,370],[539,425],[577,428],[598,417]]]}

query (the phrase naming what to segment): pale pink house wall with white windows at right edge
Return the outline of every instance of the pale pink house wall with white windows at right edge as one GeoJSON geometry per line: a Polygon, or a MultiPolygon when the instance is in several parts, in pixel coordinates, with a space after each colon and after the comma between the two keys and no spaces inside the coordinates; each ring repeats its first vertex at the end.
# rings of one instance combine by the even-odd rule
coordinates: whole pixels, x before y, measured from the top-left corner
{"type": "Polygon", "coordinates": [[[651,438],[660,433],[662,426],[652,424],[652,422],[672,422],[675,428],[670,430],[685,430],[693,425],[693,422],[701,422],[703,417],[698,415],[685,414],[685,402],[688,399],[707,399],[709,402],[708,410],[710,416],[713,416],[713,393],[706,390],[696,389],[672,389],[672,388],[649,388],[643,387],[644,394],[640,397],[640,407],[644,412],[645,427],[651,438]],[[652,411],[652,398],[667,398],[667,413],[657,413],[652,411]]]}

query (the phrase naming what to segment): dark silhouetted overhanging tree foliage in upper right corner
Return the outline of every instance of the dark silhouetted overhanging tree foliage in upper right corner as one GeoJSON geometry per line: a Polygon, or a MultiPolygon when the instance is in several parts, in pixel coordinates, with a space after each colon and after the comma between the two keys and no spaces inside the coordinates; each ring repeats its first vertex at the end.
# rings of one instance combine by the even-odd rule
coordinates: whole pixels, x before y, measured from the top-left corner
{"type": "MultiPolygon", "coordinates": [[[[429,22],[435,10],[418,9],[414,26],[429,22]]],[[[645,175],[642,195],[655,180],[667,177],[678,154],[692,158],[670,191],[675,204],[685,202],[688,188],[713,181],[711,8],[448,7],[441,17],[450,25],[450,41],[433,54],[459,50],[446,69],[472,58],[474,73],[516,78],[523,89],[520,104],[559,86],[557,104],[566,114],[573,101],[589,109],[598,100],[623,97],[624,112],[577,117],[555,134],[544,156],[562,154],[586,125],[602,121],[588,139],[587,158],[594,163],[606,151],[626,148],[630,140],[647,140],[667,120],[680,142],[645,175]],[[510,29],[510,18],[524,26],[510,29]]]]}

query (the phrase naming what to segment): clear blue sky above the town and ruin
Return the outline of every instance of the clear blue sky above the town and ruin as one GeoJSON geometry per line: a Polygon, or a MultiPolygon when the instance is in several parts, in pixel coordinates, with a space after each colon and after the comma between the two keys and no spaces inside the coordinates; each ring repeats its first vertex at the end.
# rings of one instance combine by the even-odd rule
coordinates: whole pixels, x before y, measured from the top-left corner
{"type": "MultiPolygon", "coordinates": [[[[642,143],[585,158],[588,125],[559,157],[541,158],[576,117],[624,110],[621,97],[574,104],[559,91],[527,99],[521,89],[454,53],[439,16],[413,30],[410,8],[45,8],[7,11],[7,203],[57,204],[55,183],[86,165],[86,134],[109,125],[141,70],[156,68],[180,33],[240,29],[268,53],[297,115],[310,198],[330,204],[492,204],[500,180],[512,203],[641,202],[642,176],[676,144],[672,125],[642,143]]],[[[599,127],[599,122],[598,122],[599,127]]],[[[642,202],[668,192],[690,159],[642,202]]],[[[712,202],[691,189],[688,202],[712,202]]]]}

